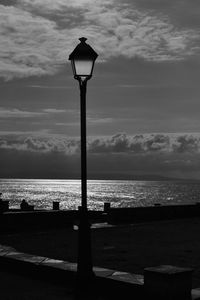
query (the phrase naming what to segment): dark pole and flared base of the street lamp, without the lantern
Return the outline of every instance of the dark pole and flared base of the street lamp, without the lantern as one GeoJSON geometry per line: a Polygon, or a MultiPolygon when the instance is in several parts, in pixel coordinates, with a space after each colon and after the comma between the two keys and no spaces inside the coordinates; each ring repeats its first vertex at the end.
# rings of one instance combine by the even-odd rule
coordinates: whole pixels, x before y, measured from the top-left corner
{"type": "MultiPolygon", "coordinates": [[[[94,285],[92,270],[91,230],[87,209],[87,143],[86,143],[86,85],[87,80],[79,79],[80,111],[81,111],[81,207],[79,210],[78,229],[78,267],[77,267],[77,299],[91,293],[94,285]]],[[[92,298],[91,298],[92,299],[92,298]]],[[[94,299],[94,296],[93,296],[94,299]]]]}

